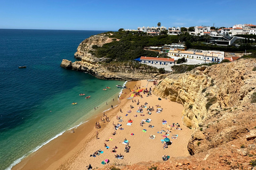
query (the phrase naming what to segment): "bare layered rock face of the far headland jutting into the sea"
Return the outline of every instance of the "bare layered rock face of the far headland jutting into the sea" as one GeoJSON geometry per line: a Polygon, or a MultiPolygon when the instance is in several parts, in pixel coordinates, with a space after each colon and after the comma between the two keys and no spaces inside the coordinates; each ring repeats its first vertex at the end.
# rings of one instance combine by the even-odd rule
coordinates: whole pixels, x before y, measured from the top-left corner
{"type": "Polygon", "coordinates": [[[158,74],[155,67],[142,65],[135,62],[108,63],[108,58],[98,58],[95,55],[95,47],[110,43],[108,35],[100,34],[85,39],[77,48],[75,58],[82,61],[71,62],[62,60],[61,67],[69,70],[87,72],[98,79],[135,81],[150,79],[158,74]],[[94,48],[93,48],[94,47],[94,48]]]}

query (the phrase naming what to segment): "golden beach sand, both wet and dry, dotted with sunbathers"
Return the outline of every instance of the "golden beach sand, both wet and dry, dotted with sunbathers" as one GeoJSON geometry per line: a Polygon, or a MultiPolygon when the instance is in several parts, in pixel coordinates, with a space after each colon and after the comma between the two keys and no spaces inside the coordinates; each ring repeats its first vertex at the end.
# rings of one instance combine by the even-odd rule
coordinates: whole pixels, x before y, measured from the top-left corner
{"type": "MultiPolygon", "coordinates": [[[[126,86],[134,89],[135,84],[141,88],[154,88],[153,82],[147,82],[146,80],[138,82],[128,82],[126,86]]],[[[127,92],[126,95],[121,95],[121,104],[116,108],[110,109],[105,112],[109,116],[109,122],[103,123],[101,129],[95,128],[95,122],[99,121],[100,113],[98,117],[93,118],[91,121],[79,126],[75,129],[75,133],[67,132],[61,135],[61,137],[51,141],[37,152],[31,154],[28,158],[22,160],[13,169],[85,169],[87,165],[91,164],[93,168],[103,167],[101,164],[103,160],[109,159],[109,164],[115,165],[127,165],[138,162],[163,161],[163,155],[169,155],[170,157],[186,157],[189,155],[187,150],[188,140],[191,136],[191,130],[182,124],[182,105],[171,102],[167,99],[158,100],[158,97],[151,95],[143,95],[143,98],[134,97],[136,101],[140,101],[140,104],[132,103],[131,99],[126,99],[128,95],[132,94],[128,89],[124,89],[123,92],[127,92]],[[138,107],[148,103],[147,107],[154,106],[155,111],[151,115],[147,114],[147,108],[143,108],[145,116],[140,116],[141,113],[137,113],[138,107]],[[130,105],[134,106],[131,113],[127,113],[130,109],[130,105]],[[156,113],[156,105],[160,105],[163,108],[161,113],[156,113]],[[120,112],[122,109],[122,113],[120,112]],[[127,116],[125,116],[128,114],[127,116]],[[134,115],[138,115],[134,117],[134,115]],[[116,116],[122,116],[123,122],[118,122],[116,116]],[[126,125],[129,119],[133,120],[131,126],[126,125]],[[150,118],[150,123],[145,123],[140,126],[142,119],[150,118]],[[167,121],[167,125],[162,124],[162,120],[167,121]],[[115,131],[114,124],[122,124],[124,130],[115,131]],[[157,133],[161,130],[171,128],[172,123],[179,123],[182,130],[174,130],[172,128],[169,133],[169,138],[172,141],[172,145],[163,149],[163,143],[161,139],[164,139],[162,134],[157,133]],[[149,128],[148,125],[154,125],[154,128],[149,128]],[[142,132],[146,129],[147,132],[142,132]],[[98,139],[96,139],[96,133],[99,132],[98,139]],[[134,133],[134,135],[131,135],[134,133]],[[173,134],[178,134],[177,139],[172,139],[173,134]],[[150,139],[150,135],[155,135],[155,139],[150,139]],[[109,138],[113,138],[112,141],[106,141],[109,138]],[[125,152],[125,145],[122,143],[124,139],[129,140],[130,151],[125,152]],[[109,146],[109,149],[104,147],[104,143],[109,146]],[[115,146],[117,146],[116,153],[111,152],[115,146]],[[93,152],[101,149],[103,154],[96,157],[90,157],[93,152]],[[116,159],[115,154],[124,155],[124,159],[116,159]]],[[[111,105],[111,104],[109,104],[111,105]]],[[[176,127],[176,126],[175,126],[176,127]]]]}

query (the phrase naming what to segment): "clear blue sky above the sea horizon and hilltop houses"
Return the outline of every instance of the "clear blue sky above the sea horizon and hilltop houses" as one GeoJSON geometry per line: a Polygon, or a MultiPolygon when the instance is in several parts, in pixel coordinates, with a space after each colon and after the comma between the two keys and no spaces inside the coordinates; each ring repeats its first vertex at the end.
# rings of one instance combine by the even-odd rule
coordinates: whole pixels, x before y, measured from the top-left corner
{"type": "Polygon", "coordinates": [[[0,28],[118,30],[256,24],[255,0],[0,0],[0,28]]]}

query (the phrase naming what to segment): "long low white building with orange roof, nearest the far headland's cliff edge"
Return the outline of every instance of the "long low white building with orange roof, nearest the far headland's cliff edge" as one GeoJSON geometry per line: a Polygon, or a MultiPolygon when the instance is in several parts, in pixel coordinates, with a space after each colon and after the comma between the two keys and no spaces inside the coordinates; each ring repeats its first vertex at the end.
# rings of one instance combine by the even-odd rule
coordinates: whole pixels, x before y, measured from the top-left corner
{"type": "Polygon", "coordinates": [[[140,57],[142,64],[171,65],[174,64],[174,58],[140,57]]]}

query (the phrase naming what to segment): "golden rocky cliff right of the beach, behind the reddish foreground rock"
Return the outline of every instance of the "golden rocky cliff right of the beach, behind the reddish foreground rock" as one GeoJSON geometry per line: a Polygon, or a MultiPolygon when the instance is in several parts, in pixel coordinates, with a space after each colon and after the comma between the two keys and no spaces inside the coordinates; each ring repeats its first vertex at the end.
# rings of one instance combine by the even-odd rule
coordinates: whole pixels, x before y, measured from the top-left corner
{"type": "Polygon", "coordinates": [[[172,74],[154,94],[184,106],[183,123],[193,130],[191,155],[217,147],[248,132],[255,117],[251,96],[256,91],[255,59],[172,74]]]}

